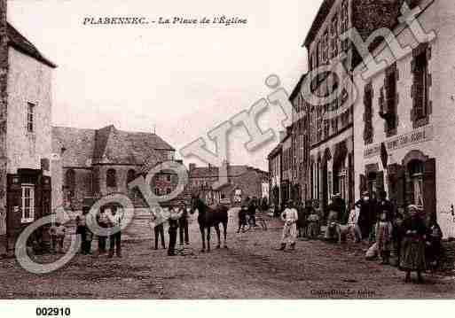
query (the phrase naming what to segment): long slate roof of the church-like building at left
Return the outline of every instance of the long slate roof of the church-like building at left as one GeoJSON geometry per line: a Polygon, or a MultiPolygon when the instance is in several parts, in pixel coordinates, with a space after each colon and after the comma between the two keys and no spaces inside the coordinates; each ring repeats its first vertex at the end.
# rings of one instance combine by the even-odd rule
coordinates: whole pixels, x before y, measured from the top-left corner
{"type": "Polygon", "coordinates": [[[100,129],[52,128],[52,151],[63,152],[64,167],[90,167],[95,164],[156,165],[174,151],[152,133],[118,130],[114,125],[100,129]]]}

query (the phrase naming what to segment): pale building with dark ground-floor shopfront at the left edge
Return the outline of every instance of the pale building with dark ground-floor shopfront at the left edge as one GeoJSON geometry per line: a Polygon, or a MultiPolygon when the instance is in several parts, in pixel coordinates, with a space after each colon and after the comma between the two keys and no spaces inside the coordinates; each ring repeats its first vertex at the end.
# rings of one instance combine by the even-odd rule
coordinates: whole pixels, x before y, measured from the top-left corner
{"type": "Polygon", "coordinates": [[[51,77],[56,67],[6,21],[0,1],[0,237],[6,248],[51,213],[51,77]]]}

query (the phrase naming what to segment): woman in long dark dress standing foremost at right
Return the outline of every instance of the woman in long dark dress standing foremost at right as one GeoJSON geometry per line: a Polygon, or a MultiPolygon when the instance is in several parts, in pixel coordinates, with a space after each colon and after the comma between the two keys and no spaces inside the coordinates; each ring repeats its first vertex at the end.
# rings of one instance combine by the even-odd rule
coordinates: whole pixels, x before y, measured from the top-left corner
{"type": "Polygon", "coordinates": [[[403,221],[403,242],[400,257],[400,268],[406,272],[404,282],[411,281],[411,272],[417,272],[419,283],[423,282],[422,272],[427,268],[425,262],[425,241],[427,227],[420,217],[419,206],[408,206],[409,216],[403,221]]]}

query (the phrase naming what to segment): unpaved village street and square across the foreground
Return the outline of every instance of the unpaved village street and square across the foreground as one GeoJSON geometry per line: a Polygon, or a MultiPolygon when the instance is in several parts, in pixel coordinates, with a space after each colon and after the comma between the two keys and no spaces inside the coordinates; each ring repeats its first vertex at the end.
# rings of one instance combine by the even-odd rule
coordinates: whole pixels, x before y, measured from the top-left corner
{"type": "MultiPolygon", "coordinates": [[[[0,259],[0,299],[335,299],[453,298],[450,275],[427,275],[404,284],[403,273],[364,258],[365,245],[299,241],[294,252],[276,251],[280,222],[238,235],[231,210],[229,249],[200,252],[197,222],[185,255],[166,256],[150,238],[123,244],[123,258],[78,255],[48,275],[30,274],[0,259]]],[[[137,225],[136,225],[137,226],[137,225]]],[[[131,229],[129,229],[131,230],[131,229]]],[[[128,238],[127,235],[125,237],[128,238]]],[[[215,240],[212,233],[212,240],[215,240]]],[[[95,245],[95,244],[94,244],[95,245]]],[[[41,257],[45,261],[55,257],[41,257]]]]}

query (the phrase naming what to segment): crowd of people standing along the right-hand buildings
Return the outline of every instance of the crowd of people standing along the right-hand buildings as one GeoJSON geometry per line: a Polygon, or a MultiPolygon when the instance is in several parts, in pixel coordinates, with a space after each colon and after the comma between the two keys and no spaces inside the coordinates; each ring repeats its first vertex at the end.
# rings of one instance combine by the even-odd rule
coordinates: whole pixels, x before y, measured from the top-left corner
{"type": "MultiPolygon", "coordinates": [[[[311,201],[304,206],[288,201],[280,217],[284,226],[279,250],[286,250],[286,244],[294,250],[297,237],[318,237],[324,219],[321,209],[311,201]]],[[[372,259],[379,256],[381,264],[390,264],[394,252],[396,265],[406,273],[405,282],[411,280],[412,271],[417,272],[418,281],[422,282],[422,273],[428,267],[439,266],[443,233],[435,214],[425,213],[421,206],[415,205],[398,209],[387,198],[386,191],[380,191],[379,198],[365,191],[351,205],[346,205],[338,194],[332,196],[326,207],[324,238],[333,240],[347,233],[357,243],[371,244],[366,256],[372,259]]]]}

